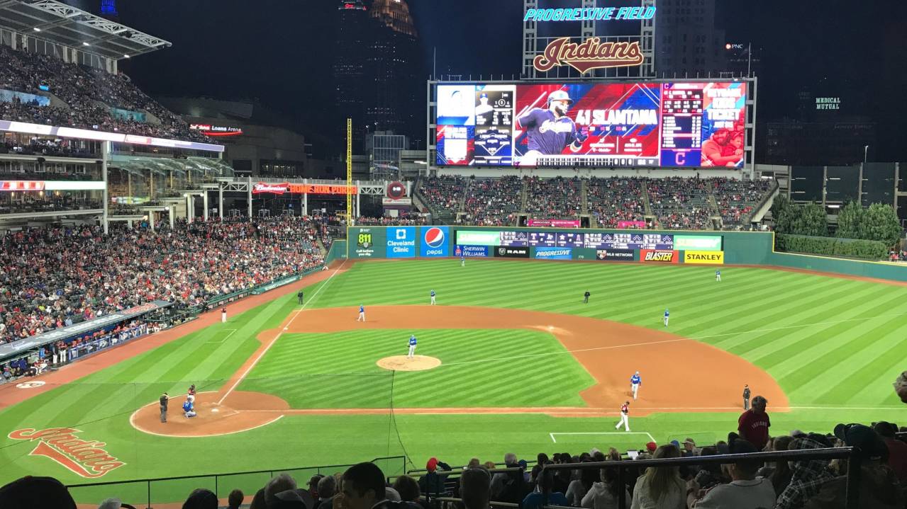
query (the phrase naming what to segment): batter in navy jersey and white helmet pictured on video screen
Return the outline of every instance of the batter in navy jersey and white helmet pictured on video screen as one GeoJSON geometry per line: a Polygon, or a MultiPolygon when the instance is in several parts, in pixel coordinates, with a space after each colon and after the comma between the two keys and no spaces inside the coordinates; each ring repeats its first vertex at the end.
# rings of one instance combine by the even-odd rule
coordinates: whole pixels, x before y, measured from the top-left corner
{"type": "Polygon", "coordinates": [[[576,129],[576,124],[567,116],[573,100],[567,91],[552,91],[548,94],[548,109],[533,108],[517,118],[520,127],[526,130],[528,150],[520,158],[521,166],[536,166],[539,156],[561,154],[569,145],[574,152],[582,149],[582,142],[588,136],[576,129]]]}

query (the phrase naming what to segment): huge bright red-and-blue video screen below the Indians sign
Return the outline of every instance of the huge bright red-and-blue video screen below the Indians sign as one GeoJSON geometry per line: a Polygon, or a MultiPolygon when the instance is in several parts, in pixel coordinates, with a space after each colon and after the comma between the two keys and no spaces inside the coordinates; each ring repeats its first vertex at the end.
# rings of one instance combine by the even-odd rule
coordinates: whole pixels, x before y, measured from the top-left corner
{"type": "Polygon", "coordinates": [[[439,84],[440,166],[742,168],[746,83],[439,84]]]}

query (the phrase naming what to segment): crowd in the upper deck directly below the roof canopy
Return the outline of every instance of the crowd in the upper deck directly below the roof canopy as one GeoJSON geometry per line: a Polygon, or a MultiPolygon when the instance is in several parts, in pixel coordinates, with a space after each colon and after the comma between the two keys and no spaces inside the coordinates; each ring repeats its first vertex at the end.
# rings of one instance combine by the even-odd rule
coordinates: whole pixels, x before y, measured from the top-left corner
{"type": "Polygon", "coordinates": [[[207,141],[122,74],[111,74],[26,53],[0,44],[0,89],[43,95],[47,91],[65,107],[34,102],[0,101],[0,120],[124,132],[167,139],[207,141]],[[122,110],[114,114],[112,108],[122,110]],[[145,118],[146,113],[154,119],[145,118]]]}

